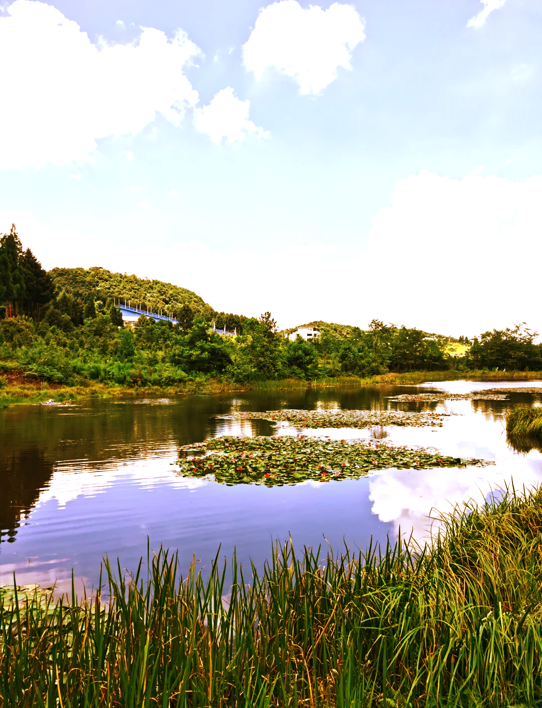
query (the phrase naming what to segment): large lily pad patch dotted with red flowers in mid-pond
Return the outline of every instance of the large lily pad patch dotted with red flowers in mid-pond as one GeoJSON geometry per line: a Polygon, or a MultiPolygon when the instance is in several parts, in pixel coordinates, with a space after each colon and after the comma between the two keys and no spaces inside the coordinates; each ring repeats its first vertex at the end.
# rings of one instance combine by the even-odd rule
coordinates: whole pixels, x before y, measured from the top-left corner
{"type": "Polygon", "coordinates": [[[212,474],[220,484],[298,484],[359,479],[376,469],[427,469],[492,464],[446,457],[423,447],[391,447],[370,440],[325,440],[305,435],[213,438],[180,448],[180,474],[212,474]]]}

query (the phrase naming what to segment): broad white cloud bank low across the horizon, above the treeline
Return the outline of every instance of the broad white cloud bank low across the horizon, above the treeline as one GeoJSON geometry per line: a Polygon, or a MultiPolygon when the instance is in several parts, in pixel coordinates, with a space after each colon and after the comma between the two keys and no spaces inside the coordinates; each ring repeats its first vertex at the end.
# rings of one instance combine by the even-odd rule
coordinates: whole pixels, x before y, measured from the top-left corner
{"type": "MultiPolygon", "coordinates": [[[[148,275],[194,290],[225,312],[258,316],[270,310],[281,327],[313,319],[365,327],[378,317],[454,336],[522,321],[542,332],[536,278],[541,193],[542,174],[526,181],[412,175],[397,183],[390,205],[374,216],[369,245],[363,233],[357,248],[334,232],[296,245],[296,226],[286,220],[292,238],[282,247],[265,232],[233,250],[228,234],[237,227],[224,222],[224,245],[211,248],[183,237],[192,228],[169,229],[153,205],[136,207],[122,222],[105,222],[94,233],[46,229],[28,213],[0,210],[0,233],[15,223],[23,247],[30,246],[45,268],[103,265],[148,275]],[[119,232],[130,234],[129,251],[115,245],[119,232]],[[159,234],[154,244],[149,233],[159,234]],[[194,268],[180,274],[178,263],[206,263],[208,277],[194,268]],[[292,275],[298,265],[302,278],[292,275]],[[227,288],[224,273],[233,274],[227,288]]],[[[168,199],[185,205],[183,193],[168,199]]]]}

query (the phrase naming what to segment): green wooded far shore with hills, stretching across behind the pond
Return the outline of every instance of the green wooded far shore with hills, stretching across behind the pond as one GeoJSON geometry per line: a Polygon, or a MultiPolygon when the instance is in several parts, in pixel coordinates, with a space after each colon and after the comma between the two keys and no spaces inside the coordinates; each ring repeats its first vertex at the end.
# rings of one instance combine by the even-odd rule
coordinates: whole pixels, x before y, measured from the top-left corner
{"type": "Polygon", "coordinates": [[[447,351],[454,338],[378,319],[367,330],[313,322],[320,338],[290,341],[269,312],[258,319],[217,312],[170,283],[104,268],[47,273],[30,249],[23,251],[15,227],[0,239],[0,305],[0,359],[54,382],[173,385],[218,375],[310,380],[388,371],[542,369],[538,335],[525,324],[485,332],[472,343],[461,336],[461,356],[447,351]],[[119,298],[171,312],[178,324],[141,316],[125,327],[115,307],[119,298]],[[220,336],[213,325],[238,336],[220,336]]]}

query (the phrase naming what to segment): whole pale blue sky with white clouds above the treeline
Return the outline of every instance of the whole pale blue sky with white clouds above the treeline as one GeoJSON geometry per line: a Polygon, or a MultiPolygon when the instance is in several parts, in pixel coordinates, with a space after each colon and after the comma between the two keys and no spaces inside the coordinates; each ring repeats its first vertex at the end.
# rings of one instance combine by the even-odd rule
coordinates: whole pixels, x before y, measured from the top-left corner
{"type": "Polygon", "coordinates": [[[0,0],[0,233],[280,327],[542,331],[539,0],[0,0]]]}

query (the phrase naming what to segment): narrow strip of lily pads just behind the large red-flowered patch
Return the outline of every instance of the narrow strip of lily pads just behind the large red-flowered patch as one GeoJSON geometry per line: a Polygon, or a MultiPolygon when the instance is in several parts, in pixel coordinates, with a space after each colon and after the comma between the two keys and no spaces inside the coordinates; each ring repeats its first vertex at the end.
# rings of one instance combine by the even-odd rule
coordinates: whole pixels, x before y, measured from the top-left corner
{"type": "Polygon", "coordinates": [[[226,420],[263,420],[272,423],[292,423],[299,428],[372,428],[373,426],[441,426],[446,413],[407,413],[405,411],[242,411],[226,420]]]}

